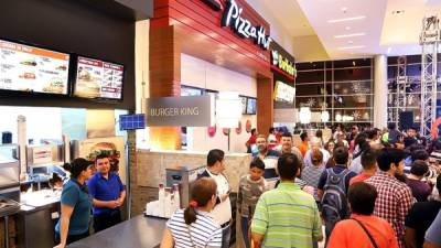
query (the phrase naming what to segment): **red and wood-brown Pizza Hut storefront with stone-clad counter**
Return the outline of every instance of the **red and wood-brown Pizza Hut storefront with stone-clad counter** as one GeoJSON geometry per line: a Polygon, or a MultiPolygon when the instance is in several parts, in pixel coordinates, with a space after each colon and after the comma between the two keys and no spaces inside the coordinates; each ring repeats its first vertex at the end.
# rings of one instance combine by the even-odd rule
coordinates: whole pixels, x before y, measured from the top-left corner
{"type": "MultiPolygon", "coordinates": [[[[243,116],[236,128],[229,130],[222,126],[180,123],[149,127],[151,150],[138,150],[132,174],[133,190],[139,195],[133,200],[132,212],[140,213],[146,202],[157,200],[159,183],[171,186],[170,173],[183,170],[184,165],[191,171],[203,169],[208,150],[218,148],[226,152],[225,175],[233,192],[235,219],[238,182],[251,161],[245,145],[249,131],[257,128],[267,133],[273,123],[270,26],[245,0],[220,1],[219,9],[207,1],[155,3],[149,35],[149,100],[171,96],[218,97],[223,91],[237,91],[244,103],[243,116]]],[[[187,202],[184,200],[182,204],[187,202]]],[[[239,235],[233,223],[232,244],[236,237],[239,235]]]]}

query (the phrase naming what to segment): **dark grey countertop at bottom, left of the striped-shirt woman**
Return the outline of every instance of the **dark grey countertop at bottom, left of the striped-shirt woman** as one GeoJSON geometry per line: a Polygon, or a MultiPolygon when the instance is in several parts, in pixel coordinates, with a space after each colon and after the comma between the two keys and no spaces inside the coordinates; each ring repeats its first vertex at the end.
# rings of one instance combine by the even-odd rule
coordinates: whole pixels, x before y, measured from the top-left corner
{"type": "Polygon", "coordinates": [[[152,248],[160,245],[166,219],[138,215],[114,227],[101,230],[67,248],[152,248]]]}

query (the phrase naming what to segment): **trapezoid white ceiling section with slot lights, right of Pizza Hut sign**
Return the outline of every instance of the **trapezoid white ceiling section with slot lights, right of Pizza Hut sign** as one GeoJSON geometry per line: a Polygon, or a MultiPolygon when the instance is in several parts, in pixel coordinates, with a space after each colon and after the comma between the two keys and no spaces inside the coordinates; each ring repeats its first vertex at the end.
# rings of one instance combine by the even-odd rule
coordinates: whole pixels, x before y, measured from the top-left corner
{"type": "Polygon", "coordinates": [[[331,58],[381,53],[379,39],[387,1],[298,0],[298,2],[331,58]],[[330,22],[343,19],[354,20],[330,22]],[[335,37],[352,34],[364,35],[335,37]]]}

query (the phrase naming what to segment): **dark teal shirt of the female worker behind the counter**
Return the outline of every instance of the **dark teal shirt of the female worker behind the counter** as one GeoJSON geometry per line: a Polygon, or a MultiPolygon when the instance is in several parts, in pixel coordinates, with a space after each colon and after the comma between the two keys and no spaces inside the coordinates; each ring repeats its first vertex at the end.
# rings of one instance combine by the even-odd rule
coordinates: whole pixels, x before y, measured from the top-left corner
{"type": "MultiPolygon", "coordinates": [[[[85,186],[80,186],[72,179],[63,186],[61,202],[74,208],[72,212],[68,235],[82,235],[89,230],[92,200],[85,186]]],[[[55,226],[55,231],[60,234],[60,222],[55,226]]]]}

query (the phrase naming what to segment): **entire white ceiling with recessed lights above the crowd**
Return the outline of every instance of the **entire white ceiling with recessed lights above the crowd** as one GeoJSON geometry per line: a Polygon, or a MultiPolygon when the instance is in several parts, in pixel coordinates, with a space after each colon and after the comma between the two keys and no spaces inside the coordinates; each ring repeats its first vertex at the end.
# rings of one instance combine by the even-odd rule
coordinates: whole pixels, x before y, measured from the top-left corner
{"type": "MultiPolygon", "coordinates": [[[[323,60],[419,54],[422,18],[438,13],[441,0],[258,0],[297,44],[303,36],[318,36],[320,47],[302,45],[302,53],[324,47],[323,60]],[[397,14],[396,11],[401,13],[397,14]],[[330,20],[365,17],[330,23],[330,20]],[[359,34],[361,36],[335,37],[359,34]]],[[[311,45],[312,46],[312,45],[311,45]]],[[[295,47],[293,47],[295,51],[295,47]]]]}

